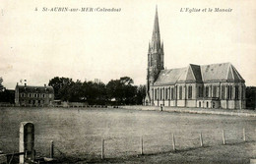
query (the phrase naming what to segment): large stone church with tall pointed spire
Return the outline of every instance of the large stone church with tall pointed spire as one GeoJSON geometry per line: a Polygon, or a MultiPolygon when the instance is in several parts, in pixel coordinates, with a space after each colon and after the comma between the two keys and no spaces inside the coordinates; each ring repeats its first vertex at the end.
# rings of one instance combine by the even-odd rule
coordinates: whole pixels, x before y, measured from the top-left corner
{"type": "Polygon", "coordinates": [[[145,105],[245,108],[245,81],[230,63],[164,69],[158,9],[148,50],[145,105]]]}

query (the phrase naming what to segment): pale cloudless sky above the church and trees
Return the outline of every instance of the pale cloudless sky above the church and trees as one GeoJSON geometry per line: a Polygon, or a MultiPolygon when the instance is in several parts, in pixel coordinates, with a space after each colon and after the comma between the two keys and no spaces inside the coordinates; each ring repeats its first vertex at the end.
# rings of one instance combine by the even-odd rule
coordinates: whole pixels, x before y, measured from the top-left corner
{"type": "Polygon", "coordinates": [[[124,76],[145,84],[156,5],[166,69],[230,62],[246,85],[256,85],[253,0],[0,1],[3,85],[43,85],[54,77],[107,83],[124,76]],[[94,12],[43,11],[54,7],[94,12]],[[119,12],[97,11],[102,8],[119,12]]]}

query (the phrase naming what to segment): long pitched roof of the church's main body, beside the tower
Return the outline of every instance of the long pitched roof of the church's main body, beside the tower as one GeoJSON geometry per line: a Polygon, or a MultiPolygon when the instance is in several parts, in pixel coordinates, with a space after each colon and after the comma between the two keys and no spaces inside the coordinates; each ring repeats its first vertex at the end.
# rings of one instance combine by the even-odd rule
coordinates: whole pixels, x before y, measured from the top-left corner
{"type": "Polygon", "coordinates": [[[174,84],[176,82],[244,82],[230,63],[193,65],[188,67],[161,70],[154,85],[174,84]]]}

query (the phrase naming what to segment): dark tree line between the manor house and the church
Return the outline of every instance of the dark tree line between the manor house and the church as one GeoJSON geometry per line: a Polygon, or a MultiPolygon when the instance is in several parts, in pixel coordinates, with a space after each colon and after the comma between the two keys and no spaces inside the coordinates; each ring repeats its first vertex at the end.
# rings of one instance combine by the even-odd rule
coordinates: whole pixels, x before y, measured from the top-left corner
{"type": "Polygon", "coordinates": [[[88,102],[98,105],[142,104],[146,94],[145,85],[134,85],[129,77],[103,82],[55,77],[48,85],[54,89],[55,99],[69,102],[88,102]]]}

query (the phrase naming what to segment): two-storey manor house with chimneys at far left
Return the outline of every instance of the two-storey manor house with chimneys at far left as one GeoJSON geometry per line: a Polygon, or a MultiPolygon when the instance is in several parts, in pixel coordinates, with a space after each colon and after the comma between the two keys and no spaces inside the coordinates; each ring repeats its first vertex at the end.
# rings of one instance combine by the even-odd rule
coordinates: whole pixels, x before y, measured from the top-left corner
{"type": "Polygon", "coordinates": [[[16,106],[51,106],[54,101],[52,86],[17,85],[15,87],[16,106]]]}

